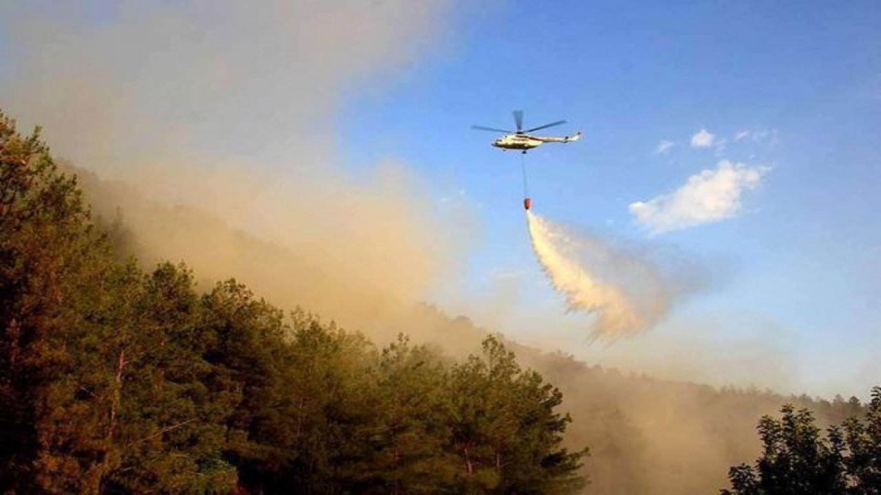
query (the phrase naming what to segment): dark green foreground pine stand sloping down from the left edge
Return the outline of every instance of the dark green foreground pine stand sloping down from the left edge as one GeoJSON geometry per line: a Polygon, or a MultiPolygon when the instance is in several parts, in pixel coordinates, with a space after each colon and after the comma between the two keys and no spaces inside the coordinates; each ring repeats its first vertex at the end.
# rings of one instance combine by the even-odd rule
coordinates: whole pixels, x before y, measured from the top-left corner
{"type": "Polygon", "coordinates": [[[0,490],[574,491],[562,395],[496,337],[460,362],[121,262],[0,116],[0,490]]]}

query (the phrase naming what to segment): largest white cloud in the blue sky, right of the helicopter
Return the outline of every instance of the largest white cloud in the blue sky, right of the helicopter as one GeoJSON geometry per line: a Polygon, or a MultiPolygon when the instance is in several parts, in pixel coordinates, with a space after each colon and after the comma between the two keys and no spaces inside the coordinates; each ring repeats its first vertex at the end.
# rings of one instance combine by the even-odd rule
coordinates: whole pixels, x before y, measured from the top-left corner
{"type": "Polygon", "coordinates": [[[737,216],[740,196],[756,188],[766,168],[723,159],[715,170],[703,170],[675,191],[646,202],[631,203],[630,212],[651,233],[684,229],[737,216]]]}

